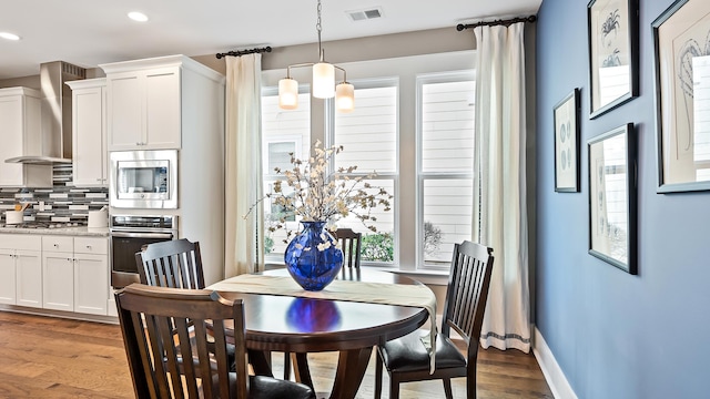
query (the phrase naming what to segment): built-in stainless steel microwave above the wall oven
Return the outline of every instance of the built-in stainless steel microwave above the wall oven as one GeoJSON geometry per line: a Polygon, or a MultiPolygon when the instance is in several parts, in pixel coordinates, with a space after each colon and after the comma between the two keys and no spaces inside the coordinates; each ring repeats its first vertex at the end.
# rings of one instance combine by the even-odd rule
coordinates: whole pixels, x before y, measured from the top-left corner
{"type": "Polygon", "coordinates": [[[112,151],[109,204],[118,208],[178,208],[178,150],[112,151]]]}

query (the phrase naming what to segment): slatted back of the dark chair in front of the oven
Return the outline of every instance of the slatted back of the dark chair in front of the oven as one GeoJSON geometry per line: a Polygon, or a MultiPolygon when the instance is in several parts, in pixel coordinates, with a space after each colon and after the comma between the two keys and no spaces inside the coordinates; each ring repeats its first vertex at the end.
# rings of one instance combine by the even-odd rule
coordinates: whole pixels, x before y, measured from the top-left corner
{"type": "Polygon", "coordinates": [[[202,289],[200,243],[185,238],[149,244],[135,254],[141,283],[155,287],[202,289]]]}

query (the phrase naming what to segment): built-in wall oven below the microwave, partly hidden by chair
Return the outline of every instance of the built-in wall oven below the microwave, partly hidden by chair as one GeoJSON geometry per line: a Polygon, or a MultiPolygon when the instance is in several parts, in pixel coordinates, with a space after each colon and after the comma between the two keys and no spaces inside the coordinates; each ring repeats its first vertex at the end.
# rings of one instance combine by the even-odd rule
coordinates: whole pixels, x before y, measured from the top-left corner
{"type": "Polygon", "coordinates": [[[111,233],[111,286],[123,288],[140,280],[135,253],[152,243],[178,238],[175,215],[112,215],[111,233]]]}

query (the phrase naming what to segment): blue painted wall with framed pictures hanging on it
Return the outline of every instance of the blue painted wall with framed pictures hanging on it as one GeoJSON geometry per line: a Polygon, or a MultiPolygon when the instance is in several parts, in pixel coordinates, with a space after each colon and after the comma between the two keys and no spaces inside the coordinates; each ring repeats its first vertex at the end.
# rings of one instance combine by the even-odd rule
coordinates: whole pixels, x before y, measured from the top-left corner
{"type": "Polygon", "coordinates": [[[536,325],[579,398],[709,398],[710,192],[656,193],[650,24],[672,0],[640,0],[640,95],[595,120],[587,3],[544,0],[538,14],[536,325]],[[581,192],[556,193],[552,108],[574,88],[581,192]],[[586,144],[627,122],[639,145],[638,276],[587,253],[586,144]]]}

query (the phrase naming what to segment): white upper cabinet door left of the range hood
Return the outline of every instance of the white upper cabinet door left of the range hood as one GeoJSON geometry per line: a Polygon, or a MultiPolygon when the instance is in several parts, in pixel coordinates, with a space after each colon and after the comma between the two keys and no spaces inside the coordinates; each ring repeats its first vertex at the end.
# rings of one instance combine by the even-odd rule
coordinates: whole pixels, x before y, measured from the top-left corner
{"type": "Polygon", "coordinates": [[[0,145],[0,186],[22,185],[22,165],[4,162],[7,158],[24,154],[22,112],[21,95],[0,98],[0,126],[3,139],[0,145]]]}

